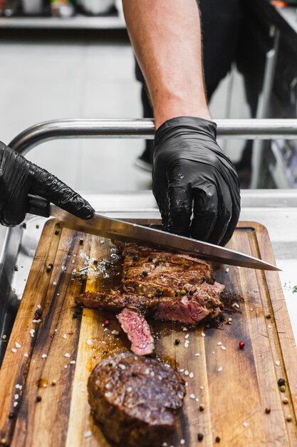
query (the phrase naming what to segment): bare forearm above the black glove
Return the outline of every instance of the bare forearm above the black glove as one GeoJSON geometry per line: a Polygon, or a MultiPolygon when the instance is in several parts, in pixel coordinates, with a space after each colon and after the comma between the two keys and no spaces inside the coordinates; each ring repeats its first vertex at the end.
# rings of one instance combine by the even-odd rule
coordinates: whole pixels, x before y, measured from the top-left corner
{"type": "Polygon", "coordinates": [[[156,128],[176,116],[209,119],[196,0],[123,0],[123,7],[156,128]]]}

